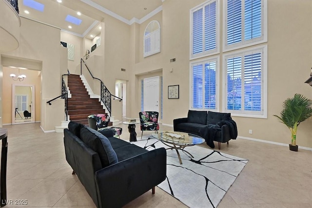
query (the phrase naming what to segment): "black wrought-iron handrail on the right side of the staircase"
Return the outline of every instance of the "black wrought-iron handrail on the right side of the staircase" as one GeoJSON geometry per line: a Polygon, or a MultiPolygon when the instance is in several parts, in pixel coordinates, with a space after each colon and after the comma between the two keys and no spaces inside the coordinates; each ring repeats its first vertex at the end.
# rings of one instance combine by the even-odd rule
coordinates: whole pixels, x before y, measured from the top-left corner
{"type": "Polygon", "coordinates": [[[112,96],[114,97],[113,99],[115,99],[115,98],[119,99],[119,102],[122,100],[122,98],[117,97],[115,95],[112,95],[111,92],[109,92],[107,87],[104,85],[102,80],[100,80],[99,78],[94,77],[92,75],[89,67],[87,66],[87,64],[84,62],[84,60],[82,58],[80,58],[80,75],[82,75],[82,62],[86,66],[86,68],[87,68],[89,74],[91,75],[91,77],[93,79],[97,79],[97,80],[99,80],[101,82],[101,101],[104,103],[104,105],[107,108],[107,111],[109,112],[110,116],[112,116],[112,96]]]}

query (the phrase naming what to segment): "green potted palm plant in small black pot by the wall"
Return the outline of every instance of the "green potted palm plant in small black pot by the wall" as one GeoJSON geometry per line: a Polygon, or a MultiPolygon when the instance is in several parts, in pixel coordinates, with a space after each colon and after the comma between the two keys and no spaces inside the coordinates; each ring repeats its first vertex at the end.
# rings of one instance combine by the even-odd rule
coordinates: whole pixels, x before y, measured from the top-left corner
{"type": "Polygon", "coordinates": [[[295,94],[292,98],[287,98],[283,102],[283,110],[277,117],[279,122],[285,124],[292,133],[292,144],[289,145],[291,151],[298,151],[296,145],[296,135],[298,125],[312,116],[312,100],[303,95],[295,94]]]}

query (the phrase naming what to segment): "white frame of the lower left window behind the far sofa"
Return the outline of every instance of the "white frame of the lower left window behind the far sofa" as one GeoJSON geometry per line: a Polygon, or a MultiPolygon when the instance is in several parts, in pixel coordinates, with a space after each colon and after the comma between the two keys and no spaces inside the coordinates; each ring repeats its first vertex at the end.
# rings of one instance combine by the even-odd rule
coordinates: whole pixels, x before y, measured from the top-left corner
{"type": "MultiPolygon", "coordinates": [[[[190,109],[191,110],[196,110],[196,111],[215,111],[217,112],[220,109],[220,57],[215,56],[215,57],[209,57],[205,59],[200,59],[196,61],[191,61],[190,62],[190,109]],[[207,62],[213,62],[215,61],[216,67],[215,67],[215,109],[210,109],[210,108],[205,108],[205,99],[204,99],[204,91],[203,91],[203,103],[202,106],[203,108],[193,108],[193,65],[197,64],[205,64],[207,62]]],[[[204,71],[203,71],[203,76],[204,76],[204,71]]]]}

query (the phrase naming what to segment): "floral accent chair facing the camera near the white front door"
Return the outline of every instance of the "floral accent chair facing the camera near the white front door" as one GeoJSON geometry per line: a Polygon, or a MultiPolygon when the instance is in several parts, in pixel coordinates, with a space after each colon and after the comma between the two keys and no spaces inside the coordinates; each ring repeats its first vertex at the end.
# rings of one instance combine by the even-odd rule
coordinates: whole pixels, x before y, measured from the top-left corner
{"type": "Polygon", "coordinates": [[[158,124],[158,112],[155,111],[143,111],[139,112],[140,117],[140,129],[142,131],[141,138],[143,136],[143,131],[155,131],[159,130],[158,124]]]}

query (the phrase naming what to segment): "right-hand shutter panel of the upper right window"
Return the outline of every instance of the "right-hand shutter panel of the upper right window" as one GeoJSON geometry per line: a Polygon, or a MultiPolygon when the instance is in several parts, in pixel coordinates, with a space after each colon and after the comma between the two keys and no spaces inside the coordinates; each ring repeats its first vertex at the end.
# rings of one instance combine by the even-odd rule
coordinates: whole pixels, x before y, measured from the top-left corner
{"type": "Polygon", "coordinates": [[[261,37],[261,0],[245,0],[245,40],[261,37]]]}

